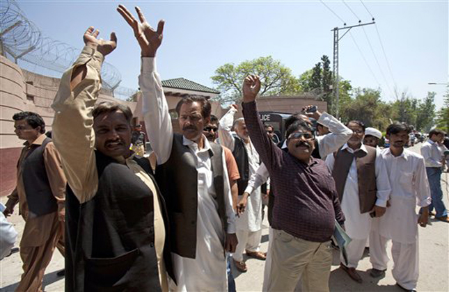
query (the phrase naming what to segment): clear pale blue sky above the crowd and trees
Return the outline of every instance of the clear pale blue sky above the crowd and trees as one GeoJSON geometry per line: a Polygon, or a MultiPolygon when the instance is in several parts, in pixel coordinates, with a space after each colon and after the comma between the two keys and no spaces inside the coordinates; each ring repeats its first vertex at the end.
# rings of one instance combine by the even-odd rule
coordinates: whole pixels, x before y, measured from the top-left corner
{"type": "MultiPolygon", "coordinates": [[[[88,26],[102,38],[115,31],[118,47],[107,62],[121,86],[138,87],[140,48],[116,11],[139,6],[148,22],[165,19],[157,53],[162,80],[184,77],[214,87],[211,76],[225,63],[273,56],[295,76],[322,55],[333,59],[334,27],[351,29],[339,42],[339,73],[354,88],[379,88],[384,101],[395,91],[423,99],[436,92],[443,106],[448,84],[448,1],[17,1],[44,35],[81,49],[88,26]],[[364,6],[363,6],[364,4],[364,6]],[[348,8],[349,6],[349,8],[348,8]],[[427,83],[443,83],[429,85],[427,83]]],[[[134,12],[134,11],[133,11],[134,12]]],[[[134,13],[135,15],[135,13],[134,13]]],[[[340,36],[345,31],[340,31],[340,36]]]]}

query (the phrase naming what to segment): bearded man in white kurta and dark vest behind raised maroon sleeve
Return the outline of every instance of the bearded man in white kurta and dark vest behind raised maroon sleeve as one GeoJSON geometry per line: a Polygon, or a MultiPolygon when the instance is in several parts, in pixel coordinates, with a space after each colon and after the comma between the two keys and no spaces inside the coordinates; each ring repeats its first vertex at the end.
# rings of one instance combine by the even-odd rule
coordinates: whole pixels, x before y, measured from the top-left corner
{"type": "Polygon", "coordinates": [[[234,119],[237,113],[237,106],[230,106],[228,113],[220,120],[219,136],[221,145],[228,147],[237,161],[240,179],[237,180],[239,189],[239,202],[237,208],[244,208],[239,218],[235,220],[237,229],[237,239],[239,244],[233,254],[235,267],[240,272],[246,272],[248,268],[243,261],[243,252],[255,259],[266,259],[266,254],[260,252],[260,240],[262,239],[262,197],[260,188],[254,188],[249,193],[244,193],[251,175],[255,173],[260,164],[259,154],[255,151],[253,143],[249,138],[243,118],[234,119]],[[234,136],[231,129],[234,129],[237,136],[234,136]]]}

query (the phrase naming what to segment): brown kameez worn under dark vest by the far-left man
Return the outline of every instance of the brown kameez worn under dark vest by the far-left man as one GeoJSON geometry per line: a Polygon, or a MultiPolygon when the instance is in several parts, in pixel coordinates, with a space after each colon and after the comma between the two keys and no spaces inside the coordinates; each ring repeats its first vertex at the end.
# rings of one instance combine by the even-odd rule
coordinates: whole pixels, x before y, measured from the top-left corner
{"type": "MultiPolygon", "coordinates": [[[[52,231],[52,229],[46,227],[52,226],[56,217],[56,212],[38,217],[33,216],[33,214],[29,213],[24,181],[22,179],[22,162],[24,158],[31,150],[32,145],[42,145],[45,138],[46,136],[42,134],[31,144],[29,144],[28,142],[24,143],[24,148],[20,153],[19,162],[17,163],[17,185],[13,190],[13,193],[8,196],[8,204],[12,204],[12,206],[14,206],[15,204],[19,203],[20,214],[26,221],[24,233],[22,235],[22,241],[20,242],[20,246],[22,247],[39,246],[44,244],[51,235],[49,234],[49,232],[52,231]]],[[[58,204],[63,205],[65,202],[65,186],[67,184],[67,181],[65,179],[65,175],[61,165],[61,157],[59,156],[52,142],[47,143],[42,156],[44,158],[45,170],[47,171],[47,177],[49,180],[50,188],[52,189],[52,193],[56,198],[58,204]]]]}

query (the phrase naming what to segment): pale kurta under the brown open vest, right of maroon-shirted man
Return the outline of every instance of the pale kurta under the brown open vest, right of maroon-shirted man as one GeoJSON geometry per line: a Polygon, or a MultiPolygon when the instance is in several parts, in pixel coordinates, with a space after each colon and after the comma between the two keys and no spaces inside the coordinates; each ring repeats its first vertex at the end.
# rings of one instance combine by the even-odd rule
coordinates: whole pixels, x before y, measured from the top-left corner
{"type": "MultiPolygon", "coordinates": [[[[354,153],[354,150],[347,144],[343,145],[342,149],[347,149],[348,152],[354,153]]],[[[356,151],[368,152],[363,144],[356,151]]],[[[326,164],[330,172],[333,170],[333,163],[335,163],[335,158],[333,157],[333,154],[329,154],[326,159],[326,164]]],[[[391,186],[390,181],[388,180],[388,175],[386,174],[385,163],[382,160],[379,150],[376,150],[375,169],[377,183],[376,205],[386,206],[388,196],[391,192],[391,186]]],[[[368,238],[371,229],[371,217],[370,213],[360,213],[359,178],[357,175],[355,158],[352,160],[347,175],[341,209],[345,214],[345,229],[349,237],[354,239],[368,238]]]]}

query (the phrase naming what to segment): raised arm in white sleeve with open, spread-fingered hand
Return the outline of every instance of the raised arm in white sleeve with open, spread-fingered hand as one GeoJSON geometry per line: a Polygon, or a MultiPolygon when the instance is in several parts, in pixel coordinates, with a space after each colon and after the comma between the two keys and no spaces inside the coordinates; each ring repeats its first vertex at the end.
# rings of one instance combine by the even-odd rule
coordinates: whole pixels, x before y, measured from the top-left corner
{"type": "Polygon", "coordinates": [[[164,20],[159,21],[157,30],[152,29],[141,9],[136,7],[139,21],[123,5],[117,8],[120,15],[134,31],[134,36],[141,47],[141,75],[139,86],[142,91],[142,113],[148,140],[155,154],[157,163],[163,164],[170,158],[173,143],[173,127],[168,113],[162,83],[157,73],[156,53],[162,44],[164,20]]]}

